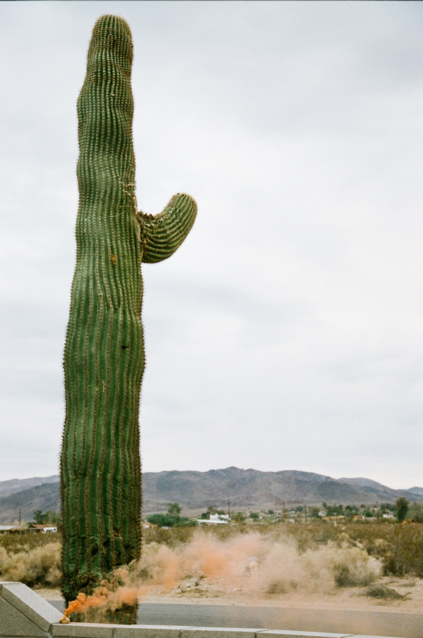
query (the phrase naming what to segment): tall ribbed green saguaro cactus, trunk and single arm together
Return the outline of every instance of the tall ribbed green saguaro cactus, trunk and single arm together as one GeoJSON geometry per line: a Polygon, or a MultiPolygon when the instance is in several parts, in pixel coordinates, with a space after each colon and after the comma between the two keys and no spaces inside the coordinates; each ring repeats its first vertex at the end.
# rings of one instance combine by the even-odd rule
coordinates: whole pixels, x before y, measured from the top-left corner
{"type": "Polygon", "coordinates": [[[137,212],[131,64],[128,24],[102,16],[77,103],[77,263],[63,357],[61,449],[67,601],[140,557],[140,267],[172,255],[197,214],[193,198],[182,194],[157,216],[137,212]]]}

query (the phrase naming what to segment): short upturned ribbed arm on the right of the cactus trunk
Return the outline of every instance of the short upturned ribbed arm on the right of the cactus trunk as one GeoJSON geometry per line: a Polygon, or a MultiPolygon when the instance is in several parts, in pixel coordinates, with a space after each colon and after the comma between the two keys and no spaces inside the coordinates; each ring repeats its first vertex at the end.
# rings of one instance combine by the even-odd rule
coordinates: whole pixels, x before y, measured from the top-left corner
{"type": "Polygon", "coordinates": [[[141,225],[142,262],[162,262],[174,254],[191,230],[197,215],[195,200],[174,195],[160,214],[138,214],[141,225]]]}

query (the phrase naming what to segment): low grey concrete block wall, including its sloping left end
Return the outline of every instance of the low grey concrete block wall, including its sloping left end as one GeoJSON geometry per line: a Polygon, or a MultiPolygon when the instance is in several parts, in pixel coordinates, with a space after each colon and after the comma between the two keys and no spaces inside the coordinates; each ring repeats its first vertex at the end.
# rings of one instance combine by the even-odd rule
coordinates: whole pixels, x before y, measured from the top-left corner
{"type": "MultiPolygon", "coordinates": [[[[1,638],[366,638],[276,629],[161,627],[160,625],[61,625],[61,612],[22,582],[0,582],[1,638]]],[[[368,638],[368,637],[367,637],[368,638]]]]}

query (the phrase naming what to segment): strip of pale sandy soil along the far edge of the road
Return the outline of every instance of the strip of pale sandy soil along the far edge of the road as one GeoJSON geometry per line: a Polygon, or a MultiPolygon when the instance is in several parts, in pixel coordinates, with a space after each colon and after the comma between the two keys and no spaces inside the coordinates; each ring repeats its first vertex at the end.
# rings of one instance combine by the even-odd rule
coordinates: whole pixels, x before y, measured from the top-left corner
{"type": "MultiPolygon", "coordinates": [[[[384,584],[404,598],[374,598],[366,595],[367,587],[343,587],[330,594],[291,592],[253,597],[242,588],[228,588],[219,579],[186,579],[170,591],[149,586],[142,602],[202,605],[246,605],[285,609],[334,609],[350,611],[385,611],[423,614],[423,579],[383,577],[384,584]]],[[[62,600],[59,590],[35,590],[45,600],[62,600]]],[[[392,594],[391,594],[392,595],[392,594]]]]}

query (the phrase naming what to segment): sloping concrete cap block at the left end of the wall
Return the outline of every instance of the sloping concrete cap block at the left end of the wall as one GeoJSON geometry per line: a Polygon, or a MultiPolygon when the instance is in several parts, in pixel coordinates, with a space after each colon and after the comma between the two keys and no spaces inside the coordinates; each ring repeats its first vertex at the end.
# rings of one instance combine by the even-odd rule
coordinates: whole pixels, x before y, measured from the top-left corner
{"type": "Polygon", "coordinates": [[[13,605],[17,611],[33,621],[43,632],[48,632],[52,623],[57,623],[63,614],[47,600],[38,596],[22,582],[0,583],[0,596],[13,605]]]}

